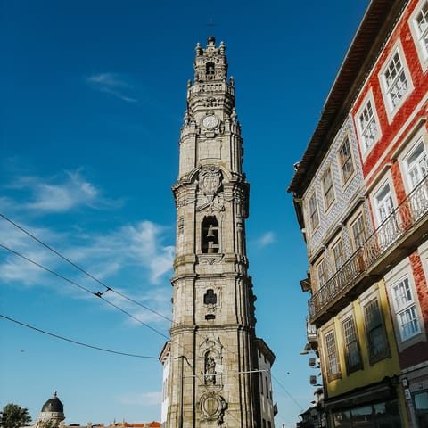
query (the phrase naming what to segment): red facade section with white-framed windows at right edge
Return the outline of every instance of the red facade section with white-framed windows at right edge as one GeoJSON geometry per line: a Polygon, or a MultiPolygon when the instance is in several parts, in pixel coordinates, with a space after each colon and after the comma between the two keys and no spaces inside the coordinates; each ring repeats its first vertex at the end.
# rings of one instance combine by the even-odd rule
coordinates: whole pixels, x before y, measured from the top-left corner
{"type": "Polygon", "coordinates": [[[352,116],[377,240],[387,235],[389,245],[398,243],[385,267],[385,285],[407,422],[423,427],[428,426],[428,2],[401,3],[403,11],[361,87],[352,116]],[[405,235],[407,242],[399,243],[405,235]]]}

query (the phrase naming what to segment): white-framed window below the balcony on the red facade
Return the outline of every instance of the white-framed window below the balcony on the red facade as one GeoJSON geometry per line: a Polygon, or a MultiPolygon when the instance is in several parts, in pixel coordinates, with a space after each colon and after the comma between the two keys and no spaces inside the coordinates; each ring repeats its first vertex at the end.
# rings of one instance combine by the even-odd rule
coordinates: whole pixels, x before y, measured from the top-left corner
{"type": "Polygon", "coordinates": [[[399,325],[401,341],[407,341],[421,332],[415,300],[408,277],[402,278],[397,284],[391,286],[394,309],[399,325]]]}

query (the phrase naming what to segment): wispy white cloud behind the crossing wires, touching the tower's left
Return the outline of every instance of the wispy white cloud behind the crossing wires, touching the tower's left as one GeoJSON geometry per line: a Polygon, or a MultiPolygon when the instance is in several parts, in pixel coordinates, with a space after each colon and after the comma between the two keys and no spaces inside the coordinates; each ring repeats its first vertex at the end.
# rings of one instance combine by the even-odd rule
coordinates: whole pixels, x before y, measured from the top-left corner
{"type": "MultiPolygon", "coordinates": [[[[119,293],[105,294],[107,300],[128,311],[139,321],[165,324],[166,318],[170,317],[170,286],[165,274],[172,269],[174,251],[172,246],[162,244],[164,232],[167,230],[165,227],[146,220],[136,225],[121,226],[110,234],[86,233],[83,242],[76,243],[78,236],[73,235],[72,231],[55,234],[46,228],[26,224],[20,226],[84,268],[103,284],[152,309],[144,309],[143,306],[121,297],[119,293]],[[116,282],[117,278],[120,278],[119,284],[116,282]]],[[[37,267],[27,260],[30,259],[59,272],[91,292],[105,290],[102,284],[82,275],[52,251],[4,220],[0,221],[0,235],[1,243],[15,251],[13,253],[0,248],[0,277],[4,284],[49,287],[74,299],[94,297],[91,293],[82,292],[77,286],[37,267]]],[[[130,319],[130,322],[137,325],[135,320],[130,319]]]]}

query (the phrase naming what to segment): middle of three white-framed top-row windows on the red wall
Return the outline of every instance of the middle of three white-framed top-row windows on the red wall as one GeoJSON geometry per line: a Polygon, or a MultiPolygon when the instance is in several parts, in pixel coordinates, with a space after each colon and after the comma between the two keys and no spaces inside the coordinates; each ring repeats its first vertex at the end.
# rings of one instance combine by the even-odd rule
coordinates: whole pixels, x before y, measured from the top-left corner
{"type": "Polygon", "coordinates": [[[383,94],[389,113],[396,111],[411,89],[411,81],[405,68],[404,55],[399,48],[392,53],[381,75],[383,94]]]}

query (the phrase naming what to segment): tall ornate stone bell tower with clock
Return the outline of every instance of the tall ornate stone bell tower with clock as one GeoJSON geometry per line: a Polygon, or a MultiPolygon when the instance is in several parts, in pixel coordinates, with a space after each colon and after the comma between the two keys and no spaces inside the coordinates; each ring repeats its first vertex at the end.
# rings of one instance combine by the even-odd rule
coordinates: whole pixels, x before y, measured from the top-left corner
{"type": "Polygon", "coordinates": [[[250,186],[234,79],[227,81],[225,45],[215,43],[209,37],[205,49],[196,45],[172,187],[177,242],[171,339],[161,354],[165,428],[262,428],[259,374],[268,370],[259,370],[247,272],[250,186]]]}

